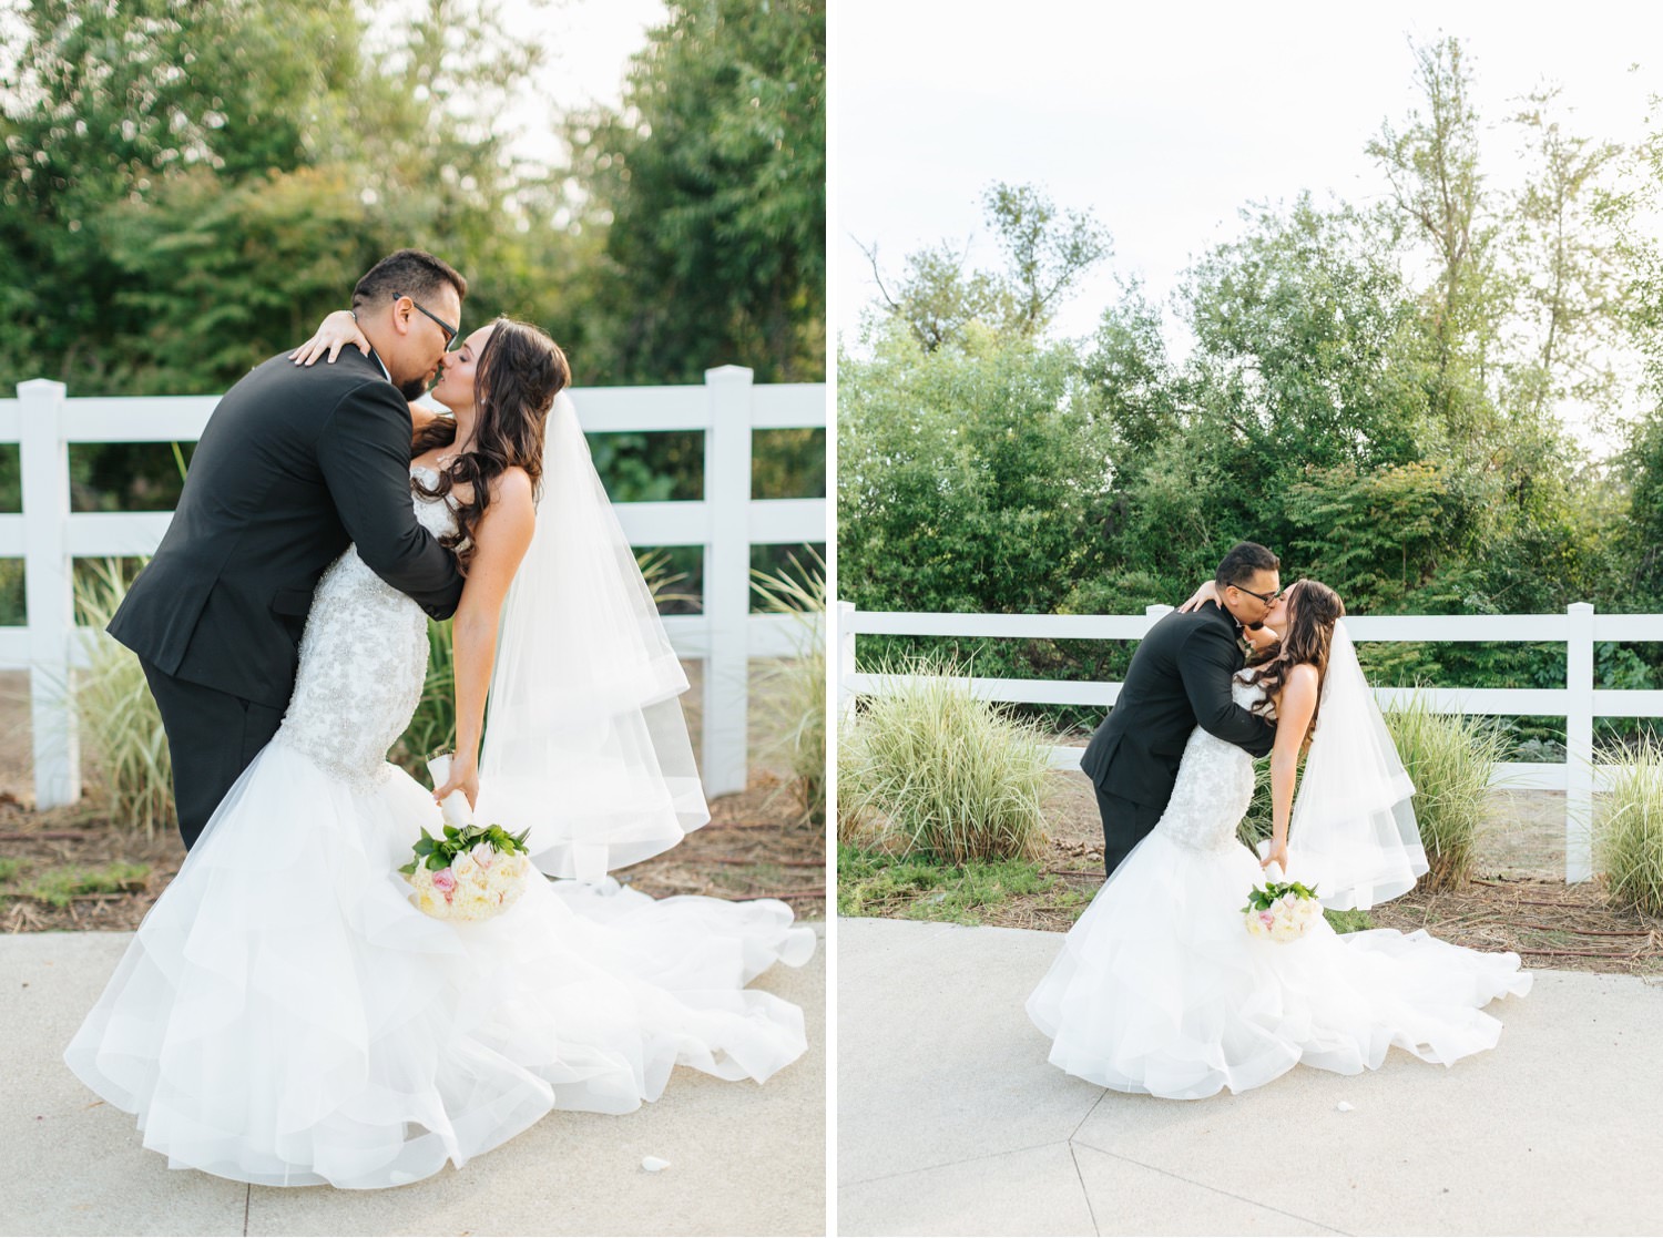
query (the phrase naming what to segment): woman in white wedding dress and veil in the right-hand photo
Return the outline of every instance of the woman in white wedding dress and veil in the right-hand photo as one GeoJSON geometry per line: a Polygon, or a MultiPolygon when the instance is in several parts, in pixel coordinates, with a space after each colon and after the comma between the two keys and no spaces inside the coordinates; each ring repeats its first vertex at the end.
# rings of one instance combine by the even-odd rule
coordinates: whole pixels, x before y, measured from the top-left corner
{"type": "Polygon", "coordinates": [[[1392,1045],[1450,1065],[1497,1044],[1502,1025],[1483,1005],[1530,990],[1517,954],[1462,949],[1425,931],[1342,936],[1317,917],[1304,937],[1277,942],[1246,929],[1242,904],[1272,864],[1330,907],[1397,897],[1425,872],[1414,786],[1344,613],[1327,585],[1295,583],[1267,617],[1285,636],[1234,683],[1237,705],[1277,720],[1262,864],[1236,838],[1252,799],[1252,756],[1197,728],[1161,821],[1029,995],[1028,1015],[1068,1073],[1194,1100],[1259,1087],[1299,1062],[1372,1070],[1392,1045]]]}

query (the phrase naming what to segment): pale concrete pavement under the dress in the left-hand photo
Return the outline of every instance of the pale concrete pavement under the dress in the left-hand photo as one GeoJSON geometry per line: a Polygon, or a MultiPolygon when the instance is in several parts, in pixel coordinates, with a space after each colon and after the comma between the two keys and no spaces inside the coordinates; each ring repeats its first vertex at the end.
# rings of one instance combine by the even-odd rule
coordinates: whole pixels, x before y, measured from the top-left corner
{"type": "Polygon", "coordinates": [[[767,1085],[679,1070],[624,1117],[550,1113],[397,1190],[268,1188],[168,1170],[135,1120],[90,1093],[63,1045],[131,934],[0,937],[5,1235],[822,1235],[825,926],[805,967],[757,980],[803,1007],[808,1054],[767,1085]],[[642,1170],[642,1157],[670,1168],[642,1170]]]}

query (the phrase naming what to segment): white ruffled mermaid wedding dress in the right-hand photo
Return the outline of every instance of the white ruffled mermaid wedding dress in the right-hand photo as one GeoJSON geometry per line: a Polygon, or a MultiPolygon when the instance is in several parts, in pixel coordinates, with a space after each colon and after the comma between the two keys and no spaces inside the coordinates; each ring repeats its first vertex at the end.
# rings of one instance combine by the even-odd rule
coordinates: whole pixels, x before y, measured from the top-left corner
{"type": "MultiPolygon", "coordinates": [[[[1232,696],[1249,706],[1261,690],[1237,680],[1232,696]]],[[[1492,1049],[1502,1025],[1482,1007],[1530,990],[1517,954],[1425,931],[1337,934],[1322,919],[1292,942],[1249,936],[1242,907],[1266,877],[1236,829],[1252,789],[1252,756],[1196,728],[1166,813],[1028,999],[1051,1062],[1119,1092],[1194,1100],[1299,1062],[1372,1070],[1392,1045],[1443,1065],[1492,1049]]],[[[1289,876],[1300,876],[1297,834],[1289,876]]]]}

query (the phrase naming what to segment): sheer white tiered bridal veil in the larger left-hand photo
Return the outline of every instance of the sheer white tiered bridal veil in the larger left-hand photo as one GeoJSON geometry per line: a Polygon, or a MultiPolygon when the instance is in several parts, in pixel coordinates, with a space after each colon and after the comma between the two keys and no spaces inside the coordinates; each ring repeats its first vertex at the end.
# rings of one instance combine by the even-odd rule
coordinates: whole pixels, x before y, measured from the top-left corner
{"type": "Polygon", "coordinates": [[[659,608],[560,392],[537,528],[502,612],[479,821],[530,829],[532,862],[599,881],[710,819],[687,690],[659,608]]]}

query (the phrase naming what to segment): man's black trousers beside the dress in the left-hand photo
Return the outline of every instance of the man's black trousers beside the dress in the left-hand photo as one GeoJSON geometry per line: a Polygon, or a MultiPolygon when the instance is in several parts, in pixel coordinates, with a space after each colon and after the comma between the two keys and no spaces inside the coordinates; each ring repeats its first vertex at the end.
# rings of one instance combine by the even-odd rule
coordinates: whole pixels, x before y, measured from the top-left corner
{"type": "Polygon", "coordinates": [[[168,733],[173,803],[180,814],[180,838],[190,851],[225,793],[278,733],[283,710],[176,680],[145,658],[138,663],[145,668],[168,733]]]}

